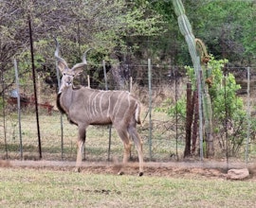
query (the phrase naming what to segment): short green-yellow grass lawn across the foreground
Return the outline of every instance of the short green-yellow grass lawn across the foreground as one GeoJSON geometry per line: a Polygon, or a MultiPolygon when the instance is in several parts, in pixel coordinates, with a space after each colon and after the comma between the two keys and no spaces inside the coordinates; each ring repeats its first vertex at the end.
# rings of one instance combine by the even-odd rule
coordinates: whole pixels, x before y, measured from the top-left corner
{"type": "Polygon", "coordinates": [[[253,207],[256,182],[0,169],[1,207],[253,207]]]}

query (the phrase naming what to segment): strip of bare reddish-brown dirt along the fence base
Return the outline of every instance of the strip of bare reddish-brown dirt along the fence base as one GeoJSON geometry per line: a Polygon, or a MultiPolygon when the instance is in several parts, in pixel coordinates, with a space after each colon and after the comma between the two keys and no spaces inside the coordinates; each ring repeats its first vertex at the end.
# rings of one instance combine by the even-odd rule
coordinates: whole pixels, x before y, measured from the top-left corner
{"type": "MultiPolygon", "coordinates": [[[[50,169],[60,171],[73,171],[75,162],[66,161],[0,161],[0,167],[8,168],[36,168],[50,169]]],[[[83,162],[82,173],[101,173],[117,174],[121,164],[112,162],[83,162]]],[[[256,165],[243,163],[227,163],[216,161],[184,161],[155,163],[147,162],[144,164],[144,175],[155,177],[173,177],[173,178],[204,178],[204,179],[227,179],[229,169],[248,168],[250,177],[247,180],[256,182],[256,165]]],[[[138,164],[129,163],[124,168],[125,174],[137,175],[138,164]]]]}

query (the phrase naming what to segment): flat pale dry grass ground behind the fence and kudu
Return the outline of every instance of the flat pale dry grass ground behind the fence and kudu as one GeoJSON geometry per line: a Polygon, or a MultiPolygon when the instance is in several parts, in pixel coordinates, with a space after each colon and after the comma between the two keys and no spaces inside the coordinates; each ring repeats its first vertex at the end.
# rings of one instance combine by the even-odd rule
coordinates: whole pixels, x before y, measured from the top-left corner
{"type": "MultiPolygon", "coordinates": [[[[141,119],[146,117],[144,109],[141,119]]],[[[0,122],[2,122],[2,117],[0,122]]],[[[20,136],[16,114],[7,116],[6,138],[8,144],[9,159],[20,158],[20,136]]],[[[167,121],[168,117],[161,113],[153,112],[154,130],[152,142],[153,159],[157,161],[166,161],[170,159],[170,155],[175,151],[174,131],[169,130],[164,125],[160,124],[160,120],[167,121]]],[[[59,113],[53,113],[51,116],[40,113],[40,135],[43,151],[43,159],[45,160],[75,160],[76,159],[76,142],[77,142],[77,127],[70,125],[63,117],[64,137],[63,137],[63,155],[62,155],[62,131],[61,117],[59,113]]],[[[145,118],[143,126],[138,126],[138,132],[144,143],[145,159],[149,156],[149,130],[148,117],[145,118]]],[[[33,113],[23,113],[21,117],[22,129],[22,144],[24,159],[37,160],[39,155],[38,150],[38,134],[36,117],[33,113]]],[[[6,158],[4,132],[0,132],[0,152],[2,159],[6,158]]],[[[106,161],[108,158],[109,145],[109,129],[108,127],[93,127],[90,126],[86,133],[85,154],[86,160],[89,161],[106,161]]],[[[183,145],[179,146],[182,153],[183,145]]],[[[120,161],[122,158],[123,145],[119,139],[116,130],[112,129],[111,136],[111,160],[115,157],[120,161]]],[[[137,150],[132,147],[132,156],[137,158],[137,150]]]]}

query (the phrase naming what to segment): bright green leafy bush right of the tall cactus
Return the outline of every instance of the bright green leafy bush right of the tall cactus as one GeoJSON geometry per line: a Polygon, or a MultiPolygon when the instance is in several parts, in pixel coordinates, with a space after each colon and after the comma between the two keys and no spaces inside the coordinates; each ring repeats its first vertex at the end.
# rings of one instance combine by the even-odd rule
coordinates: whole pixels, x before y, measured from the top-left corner
{"type": "Polygon", "coordinates": [[[223,68],[227,60],[216,61],[211,56],[208,64],[211,85],[209,88],[212,105],[213,136],[223,150],[229,146],[229,154],[237,154],[244,145],[247,134],[247,113],[243,99],[236,95],[241,87],[231,73],[223,68]]]}

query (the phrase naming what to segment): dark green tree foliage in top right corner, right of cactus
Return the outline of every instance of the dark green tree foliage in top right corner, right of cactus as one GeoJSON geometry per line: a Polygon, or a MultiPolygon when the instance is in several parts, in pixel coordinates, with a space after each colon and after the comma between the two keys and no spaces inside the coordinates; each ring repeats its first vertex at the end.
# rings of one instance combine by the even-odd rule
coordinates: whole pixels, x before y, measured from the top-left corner
{"type": "Polygon", "coordinates": [[[255,1],[187,1],[193,30],[217,59],[244,61],[255,51],[255,1]]]}

